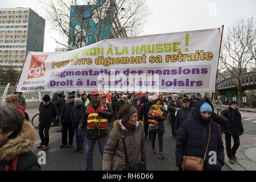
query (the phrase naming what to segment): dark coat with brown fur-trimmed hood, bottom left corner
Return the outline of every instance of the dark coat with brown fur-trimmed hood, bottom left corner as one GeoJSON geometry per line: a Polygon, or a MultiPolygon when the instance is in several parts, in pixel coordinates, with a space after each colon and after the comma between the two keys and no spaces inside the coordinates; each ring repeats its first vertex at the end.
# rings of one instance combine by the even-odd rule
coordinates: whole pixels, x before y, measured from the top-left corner
{"type": "Polygon", "coordinates": [[[31,152],[36,140],[36,130],[31,122],[24,120],[22,129],[15,138],[10,138],[0,147],[0,171],[9,166],[9,171],[13,170],[13,160],[18,157],[17,171],[39,171],[38,158],[31,152]]]}

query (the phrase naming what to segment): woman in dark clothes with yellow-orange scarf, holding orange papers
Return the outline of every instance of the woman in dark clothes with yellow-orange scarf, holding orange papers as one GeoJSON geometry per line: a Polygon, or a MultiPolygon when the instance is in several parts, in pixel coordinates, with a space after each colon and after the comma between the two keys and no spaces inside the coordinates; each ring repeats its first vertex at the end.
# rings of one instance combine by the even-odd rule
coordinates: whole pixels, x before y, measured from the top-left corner
{"type": "Polygon", "coordinates": [[[151,106],[150,110],[156,110],[159,112],[159,117],[150,114],[150,111],[147,114],[148,119],[155,119],[158,121],[158,129],[151,131],[151,147],[152,147],[152,154],[155,154],[155,139],[156,134],[158,134],[158,143],[159,143],[159,158],[164,159],[163,155],[163,134],[164,134],[164,119],[166,119],[166,108],[163,106],[163,101],[161,98],[157,98],[154,100],[153,105],[151,106]]]}

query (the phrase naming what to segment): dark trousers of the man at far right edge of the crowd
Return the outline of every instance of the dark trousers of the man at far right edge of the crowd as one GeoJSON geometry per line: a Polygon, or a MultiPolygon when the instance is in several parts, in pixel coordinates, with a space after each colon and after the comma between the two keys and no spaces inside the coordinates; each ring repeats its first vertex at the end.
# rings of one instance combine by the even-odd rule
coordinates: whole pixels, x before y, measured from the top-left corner
{"type": "Polygon", "coordinates": [[[233,158],[233,155],[236,154],[238,147],[240,146],[240,139],[238,137],[234,137],[233,135],[229,135],[225,133],[226,140],[226,153],[228,154],[228,158],[233,158]],[[234,139],[233,147],[231,148],[231,136],[234,139]]]}

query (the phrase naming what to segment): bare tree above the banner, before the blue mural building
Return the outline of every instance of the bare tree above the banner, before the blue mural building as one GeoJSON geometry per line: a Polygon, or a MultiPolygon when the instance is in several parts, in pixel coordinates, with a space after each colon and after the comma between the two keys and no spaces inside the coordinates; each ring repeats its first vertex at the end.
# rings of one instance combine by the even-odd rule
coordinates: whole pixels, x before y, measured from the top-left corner
{"type": "Polygon", "coordinates": [[[104,39],[137,36],[150,14],[145,0],[41,2],[53,29],[61,32],[62,38],[53,38],[69,49],[104,39]]]}

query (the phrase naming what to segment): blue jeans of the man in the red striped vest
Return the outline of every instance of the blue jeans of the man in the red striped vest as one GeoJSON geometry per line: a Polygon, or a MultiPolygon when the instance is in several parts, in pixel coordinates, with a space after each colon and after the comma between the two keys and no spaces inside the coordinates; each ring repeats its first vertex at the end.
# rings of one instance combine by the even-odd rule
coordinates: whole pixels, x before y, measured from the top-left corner
{"type": "Polygon", "coordinates": [[[94,146],[98,142],[98,148],[101,152],[101,158],[103,158],[104,148],[108,142],[108,137],[104,138],[86,138],[86,171],[92,171],[92,164],[93,164],[93,151],[94,146]]]}

